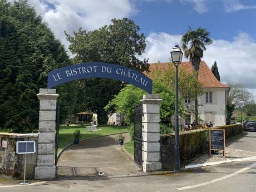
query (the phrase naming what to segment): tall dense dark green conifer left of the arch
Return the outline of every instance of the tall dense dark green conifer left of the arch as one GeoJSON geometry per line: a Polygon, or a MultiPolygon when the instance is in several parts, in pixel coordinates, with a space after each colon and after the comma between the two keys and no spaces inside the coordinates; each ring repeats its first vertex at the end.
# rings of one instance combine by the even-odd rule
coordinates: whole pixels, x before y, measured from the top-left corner
{"type": "MultiPolygon", "coordinates": [[[[27,1],[0,0],[0,127],[38,131],[36,94],[46,88],[49,71],[68,63],[63,46],[27,1]]],[[[67,83],[57,92],[63,120],[72,112],[76,91],[67,83]]]]}

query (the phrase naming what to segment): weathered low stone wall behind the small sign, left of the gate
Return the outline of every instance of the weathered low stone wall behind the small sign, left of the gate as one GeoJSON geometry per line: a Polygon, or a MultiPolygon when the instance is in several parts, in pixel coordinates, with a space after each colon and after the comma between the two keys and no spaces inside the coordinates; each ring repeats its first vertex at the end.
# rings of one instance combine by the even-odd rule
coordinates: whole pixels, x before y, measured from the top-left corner
{"type": "Polygon", "coordinates": [[[27,154],[26,178],[33,179],[37,163],[38,134],[6,134],[0,133],[0,175],[11,175],[13,178],[23,178],[24,155],[16,154],[17,141],[36,141],[36,153],[27,154]]]}

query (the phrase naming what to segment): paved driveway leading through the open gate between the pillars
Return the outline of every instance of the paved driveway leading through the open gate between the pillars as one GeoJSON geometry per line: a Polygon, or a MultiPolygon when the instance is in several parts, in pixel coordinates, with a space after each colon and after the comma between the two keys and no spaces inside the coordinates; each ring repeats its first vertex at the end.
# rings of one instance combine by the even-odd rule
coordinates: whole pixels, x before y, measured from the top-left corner
{"type": "MultiPolygon", "coordinates": [[[[129,134],[122,134],[129,140],[129,134]]],[[[127,156],[121,146],[115,142],[116,135],[71,145],[58,160],[60,175],[97,175],[99,172],[112,175],[138,173],[139,167],[127,156]]]]}

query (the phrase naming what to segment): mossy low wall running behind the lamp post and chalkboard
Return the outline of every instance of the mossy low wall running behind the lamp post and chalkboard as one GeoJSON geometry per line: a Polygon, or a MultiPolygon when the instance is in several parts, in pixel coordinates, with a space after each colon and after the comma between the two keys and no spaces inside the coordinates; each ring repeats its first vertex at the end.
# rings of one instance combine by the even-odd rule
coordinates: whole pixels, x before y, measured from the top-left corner
{"type": "MultiPolygon", "coordinates": [[[[213,129],[225,130],[226,142],[233,136],[243,132],[242,125],[225,125],[213,129]]],[[[160,137],[160,162],[162,169],[174,170],[174,134],[161,135],[160,137]]],[[[190,163],[196,156],[209,152],[208,129],[193,130],[181,133],[179,136],[180,165],[190,163]]]]}

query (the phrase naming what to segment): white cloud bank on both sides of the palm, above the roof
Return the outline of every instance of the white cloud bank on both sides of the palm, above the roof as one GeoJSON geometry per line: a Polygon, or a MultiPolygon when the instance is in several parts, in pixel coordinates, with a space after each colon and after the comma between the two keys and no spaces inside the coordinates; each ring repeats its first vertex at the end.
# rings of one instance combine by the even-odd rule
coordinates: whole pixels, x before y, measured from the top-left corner
{"type": "MultiPolygon", "coordinates": [[[[151,33],[146,37],[146,51],[140,58],[149,62],[169,62],[170,50],[180,44],[181,35],[151,33]]],[[[209,67],[217,62],[221,81],[243,83],[247,88],[256,90],[256,43],[247,33],[240,33],[233,41],[214,40],[207,47],[203,60],[209,67]]],[[[185,60],[183,60],[185,61],[185,60]]],[[[254,91],[256,94],[256,91],[254,91]]]]}

